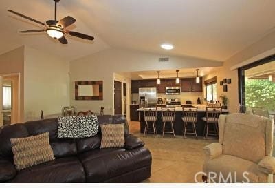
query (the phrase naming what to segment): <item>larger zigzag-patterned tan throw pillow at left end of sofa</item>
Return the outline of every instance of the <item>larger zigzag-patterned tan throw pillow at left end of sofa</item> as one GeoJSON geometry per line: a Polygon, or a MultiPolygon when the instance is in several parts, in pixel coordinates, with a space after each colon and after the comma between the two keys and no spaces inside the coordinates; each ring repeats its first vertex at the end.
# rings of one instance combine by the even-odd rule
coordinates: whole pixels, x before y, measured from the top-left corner
{"type": "Polygon", "coordinates": [[[25,138],[11,138],[10,142],[17,170],[55,159],[49,132],[25,138]]]}

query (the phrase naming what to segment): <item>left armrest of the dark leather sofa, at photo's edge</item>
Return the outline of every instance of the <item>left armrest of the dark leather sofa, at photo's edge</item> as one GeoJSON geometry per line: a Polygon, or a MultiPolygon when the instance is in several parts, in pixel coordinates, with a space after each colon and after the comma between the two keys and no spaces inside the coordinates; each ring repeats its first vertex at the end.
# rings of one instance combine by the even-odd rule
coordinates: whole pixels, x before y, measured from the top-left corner
{"type": "Polygon", "coordinates": [[[3,158],[0,158],[0,182],[5,182],[17,175],[14,165],[3,158]]]}

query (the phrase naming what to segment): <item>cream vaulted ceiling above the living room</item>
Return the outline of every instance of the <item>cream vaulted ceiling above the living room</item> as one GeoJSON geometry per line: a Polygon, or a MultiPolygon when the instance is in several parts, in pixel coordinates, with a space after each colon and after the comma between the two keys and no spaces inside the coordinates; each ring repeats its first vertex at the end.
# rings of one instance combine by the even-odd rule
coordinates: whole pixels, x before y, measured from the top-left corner
{"type": "Polygon", "coordinates": [[[274,0],[61,0],[58,18],[71,15],[74,30],[96,38],[91,44],[68,37],[61,45],[47,34],[19,34],[39,25],[6,11],[46,21],[54,1],[1,1],[0,54],[25,44],[68,60],[113,47],[225,61],[275,31],[274,7],[274,0]],[[162,50],[161,43],[175,48],[162,50]]]}

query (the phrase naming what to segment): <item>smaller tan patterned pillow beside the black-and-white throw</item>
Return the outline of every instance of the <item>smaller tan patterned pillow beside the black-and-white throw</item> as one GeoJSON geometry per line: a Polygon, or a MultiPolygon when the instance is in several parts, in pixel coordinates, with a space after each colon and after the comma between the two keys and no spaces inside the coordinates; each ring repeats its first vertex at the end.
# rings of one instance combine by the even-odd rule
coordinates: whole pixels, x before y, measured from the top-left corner
{"type": "Polygon", "coordinates": [[[124,123],[122,124],[102,124],[101,127],[101,146],[106,147],[124,147],[124,123]]]}

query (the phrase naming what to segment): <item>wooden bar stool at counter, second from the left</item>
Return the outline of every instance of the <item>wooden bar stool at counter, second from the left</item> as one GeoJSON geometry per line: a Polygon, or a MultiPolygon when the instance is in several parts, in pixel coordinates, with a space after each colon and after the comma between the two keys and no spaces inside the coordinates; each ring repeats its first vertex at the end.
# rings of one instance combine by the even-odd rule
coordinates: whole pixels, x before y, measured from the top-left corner
{"type": "Polygon", "coordinates": [[[173,134],[175,138],[174,123],[175,121],[175,107],[162,107],[162,138],[165,133],[173,134]],[[165,129],[166,123],[170,122],[170,129],[165,129]],[[165,132],[165,130],[170,130],[170,132],[165,132]]]}

